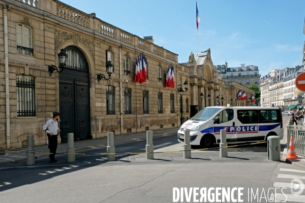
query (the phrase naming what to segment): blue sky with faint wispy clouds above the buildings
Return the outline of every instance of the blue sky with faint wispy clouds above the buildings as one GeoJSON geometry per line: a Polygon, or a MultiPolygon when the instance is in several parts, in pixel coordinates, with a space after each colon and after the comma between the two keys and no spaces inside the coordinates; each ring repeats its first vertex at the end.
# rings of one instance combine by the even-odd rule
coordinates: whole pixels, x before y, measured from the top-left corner
{"type": "MultiPolygon", "coordinates": [[[[62,0],[155,44],[187,62],[197,52],[195,0],[62,0]]],[[[198,0],[199,52],[211,49],[214,65],[257,65],[260,74],[301,65],[304,0],[198,0]]]]}

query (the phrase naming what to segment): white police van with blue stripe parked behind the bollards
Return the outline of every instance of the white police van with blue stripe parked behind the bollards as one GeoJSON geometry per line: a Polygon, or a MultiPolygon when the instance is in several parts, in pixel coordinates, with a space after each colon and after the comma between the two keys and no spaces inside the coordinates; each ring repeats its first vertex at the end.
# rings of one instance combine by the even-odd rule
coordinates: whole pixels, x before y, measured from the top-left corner
{"type": "Polygon", "coordinates": [[[225,129],[227,143],[262,142],[268,136],[284,137],[282,111],[279,107],[207,107],[181,125],[177,137],[184,142],[190,129],[191,145],[211,147],[220,143],[225,129]]]}

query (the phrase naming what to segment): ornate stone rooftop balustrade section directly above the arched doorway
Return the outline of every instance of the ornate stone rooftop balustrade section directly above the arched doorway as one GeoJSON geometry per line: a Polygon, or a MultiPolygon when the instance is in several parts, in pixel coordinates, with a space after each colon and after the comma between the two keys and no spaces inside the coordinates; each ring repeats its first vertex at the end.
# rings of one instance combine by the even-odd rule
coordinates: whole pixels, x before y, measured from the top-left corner
{"type": "Polygon", "coordinates": [[[89,26],[89,15],[65,4],[60,4],[59,2],[57,2],[57,16],[84,27],[89,26]]]}

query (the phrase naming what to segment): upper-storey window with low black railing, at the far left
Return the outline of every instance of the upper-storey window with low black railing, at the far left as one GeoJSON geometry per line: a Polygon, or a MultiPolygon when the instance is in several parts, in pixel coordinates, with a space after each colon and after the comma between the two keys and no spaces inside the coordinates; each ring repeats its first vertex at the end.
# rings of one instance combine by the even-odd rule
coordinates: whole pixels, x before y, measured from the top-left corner
{"type": "Polygon", "coordinates": [[[17,24],[17,53],[33,56],[31,28],[28,26],[17,24]]]}

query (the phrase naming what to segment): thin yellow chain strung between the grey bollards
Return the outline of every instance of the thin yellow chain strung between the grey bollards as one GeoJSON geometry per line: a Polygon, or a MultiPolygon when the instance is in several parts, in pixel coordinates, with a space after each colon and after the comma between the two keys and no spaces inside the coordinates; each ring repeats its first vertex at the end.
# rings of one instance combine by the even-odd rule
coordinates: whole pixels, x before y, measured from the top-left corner
{"type": "MultiPolygon", "coordinates": [[[[232,146],[226,146],[226,147],[211,147],[211,148],[204,148],[204,149],[190,149],[190,150],[176,150],[176,151],[163,151],[163,152],[127,152],[127,153],[56,153],[56,154],[75,154],[75,155],[137,155],[137,154],[158,154],[158,153],[177,153],[177,152],[185,152],[185,151],[204,151],[204,150],[211,150],[211,149],[220,149],[220,148],[231,148],[231,147],[241,147],[241,146],[247,146],[247,145],[257,145],[257,144],[263,144],[267,143],[264,142],[258,142],[258,143],[249,143],[249,144],[242,144],[242,145],[232,145],[232,146]]],[[[5,150],[5,153],[20,153],[24,154],[20,151],[10,151],[5,150]]],[[[52,154],[49,152],[34,152],[35,154],[52,154]]]]}

